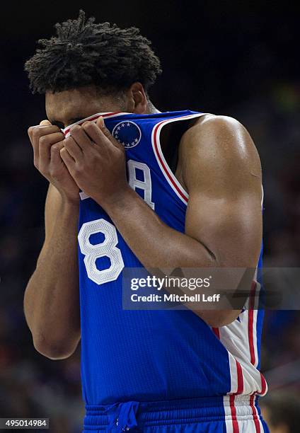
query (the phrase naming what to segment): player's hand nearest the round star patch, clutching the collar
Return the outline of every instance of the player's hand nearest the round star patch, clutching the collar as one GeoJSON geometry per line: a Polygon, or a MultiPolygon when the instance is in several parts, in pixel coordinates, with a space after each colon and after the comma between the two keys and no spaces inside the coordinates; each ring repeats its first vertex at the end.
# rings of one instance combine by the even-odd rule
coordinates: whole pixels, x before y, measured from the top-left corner
{"type": "Polygon", "coordinates": [[[129,189],[125,150],[102,117],[71,127],[60,155],[76,184],[104,209],[129,189]]]}

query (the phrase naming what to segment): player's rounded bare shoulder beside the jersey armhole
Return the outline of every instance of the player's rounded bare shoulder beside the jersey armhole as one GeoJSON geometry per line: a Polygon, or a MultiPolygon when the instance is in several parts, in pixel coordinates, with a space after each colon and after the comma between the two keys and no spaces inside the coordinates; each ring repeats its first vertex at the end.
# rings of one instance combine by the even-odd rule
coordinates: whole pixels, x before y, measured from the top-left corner
{"type": "Polygon", "coordinates": [[[251,187],[260,195],[261,166],[247,129],[228,116],[204,115],[180,140],[178,176],[192,188],[221,191],[251,187]]]}

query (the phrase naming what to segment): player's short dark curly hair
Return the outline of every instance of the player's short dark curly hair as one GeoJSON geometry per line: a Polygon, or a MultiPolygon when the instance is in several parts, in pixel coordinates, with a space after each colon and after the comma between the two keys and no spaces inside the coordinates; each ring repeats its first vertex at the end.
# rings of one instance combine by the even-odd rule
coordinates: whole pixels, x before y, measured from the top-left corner
{"type": "Polygon", "coordinates": [[[95,85],[103,91],[123,90],[139,81],[148,91],[161,73],[151,42],[138,28],[120,29],[79,18],[55,25],[56,36],[40,39],[25,63],[33,93],[60,92],[95,85]]]}

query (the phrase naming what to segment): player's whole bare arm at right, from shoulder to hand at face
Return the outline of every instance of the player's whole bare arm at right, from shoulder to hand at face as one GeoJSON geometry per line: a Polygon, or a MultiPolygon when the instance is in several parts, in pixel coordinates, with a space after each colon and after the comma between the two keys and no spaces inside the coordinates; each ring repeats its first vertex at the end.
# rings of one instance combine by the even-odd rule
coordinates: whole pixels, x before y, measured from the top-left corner
{"type": "MultiPolygon", "coordinates": [[[[241,124],[210,116],[185,133],[178,173],[190,194],[185,233],[164,224],[128,186],[122,168],[124,150],[100,120],[97,125],[86,122],[71,132],[62,151],[64,161],[81,189],[108,212],[145,267],[256,267],[262,236],[260,161],[241,124]],[[84,132],[97,147],[88,144],[84,132]],[[69,149],[73,156],[76,151],[76,165],[67,155],[69,149]],[[86,158],[88,154],[93,158],[86,158]]],[[[195,313],[209,325],[221,326],[240,311],[195,313]]]]}

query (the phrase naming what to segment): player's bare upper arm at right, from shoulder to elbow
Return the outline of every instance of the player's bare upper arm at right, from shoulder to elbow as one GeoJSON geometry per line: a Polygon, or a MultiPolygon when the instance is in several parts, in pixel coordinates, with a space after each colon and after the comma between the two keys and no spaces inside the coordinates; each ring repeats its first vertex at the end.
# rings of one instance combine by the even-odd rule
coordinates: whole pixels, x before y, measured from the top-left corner
{"type": "MultiPolygon", "coordinates": [[[[183,137],[180,157],[189,192],[185,233],[212,252],[215,267],[254,270],[262,241],[262,176],[250,135],[230,117],[206,116],[183,137]]],[[[199,316],[219,326],[239,313],[203,310],[199,316]]]]}

